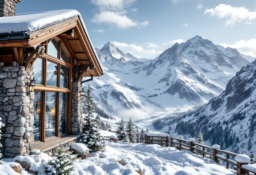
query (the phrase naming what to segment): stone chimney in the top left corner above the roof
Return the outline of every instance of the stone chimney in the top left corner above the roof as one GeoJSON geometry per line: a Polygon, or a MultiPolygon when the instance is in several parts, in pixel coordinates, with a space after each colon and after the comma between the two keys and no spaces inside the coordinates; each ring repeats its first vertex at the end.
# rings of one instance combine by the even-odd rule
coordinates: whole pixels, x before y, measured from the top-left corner
{"type": "Polygon", "coordinates": [[[16,3],[20,0],[0,0],[0,17],[14,16],[16,14],[16,3]]]}

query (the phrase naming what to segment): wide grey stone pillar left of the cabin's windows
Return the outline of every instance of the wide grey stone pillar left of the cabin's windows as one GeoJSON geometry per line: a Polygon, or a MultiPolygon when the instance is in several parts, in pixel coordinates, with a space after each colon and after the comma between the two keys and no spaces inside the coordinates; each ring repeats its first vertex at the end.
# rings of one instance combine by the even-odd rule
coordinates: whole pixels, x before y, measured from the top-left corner
{"type": "Polygon", "coordinates": [[[0,70],[0,117],[6,127],[1,142],[3,155],[14,157],[29,154],[33,149],[34,92],[26,95],[27,83],[33,72],[23,66],[8,66],[0,70]]]}

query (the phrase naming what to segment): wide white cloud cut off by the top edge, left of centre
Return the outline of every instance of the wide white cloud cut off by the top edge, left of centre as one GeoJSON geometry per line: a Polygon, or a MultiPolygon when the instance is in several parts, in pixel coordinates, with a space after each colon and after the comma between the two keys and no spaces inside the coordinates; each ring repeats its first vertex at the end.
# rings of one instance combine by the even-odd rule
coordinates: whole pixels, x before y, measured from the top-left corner
{"type": "Polygon", "coordinates": [[[125,9],[135,1],[136,0],[91,0],[93,4],[99,6],[101,11],[120,11],[125,9]]]}

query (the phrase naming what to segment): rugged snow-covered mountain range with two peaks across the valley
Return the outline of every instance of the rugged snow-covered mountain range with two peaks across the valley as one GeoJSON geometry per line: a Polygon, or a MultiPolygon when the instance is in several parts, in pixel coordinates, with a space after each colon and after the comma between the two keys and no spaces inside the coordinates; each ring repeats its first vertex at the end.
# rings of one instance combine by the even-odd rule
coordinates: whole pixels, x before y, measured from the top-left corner
{"type": "Polygon", "coordinates": [[[139,109],[134,115],[148,116],[204,104],[222,93],[235,73],[249,63],[236,49],[220,49],[200,36],[176,43],[147,62],[110,42],[96,52],[106,73],[91,82],[95,100],[117,115],[139,109]]]}

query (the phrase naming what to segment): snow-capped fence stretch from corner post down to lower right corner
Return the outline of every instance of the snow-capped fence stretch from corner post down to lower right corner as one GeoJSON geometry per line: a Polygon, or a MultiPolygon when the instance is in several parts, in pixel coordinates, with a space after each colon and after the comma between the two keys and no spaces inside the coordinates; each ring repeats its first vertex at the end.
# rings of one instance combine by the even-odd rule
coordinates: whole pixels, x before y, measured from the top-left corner
{"type": "Polygon", "coordinates": [[[247,155],[238,155],[230,151],[221,150],[219,145],[212,145],[212,147],[210,147],[207,145],[196,143],[194,138],[185,140],[175,137],[170,138],[169,145],[171,147],[176,147],[179,150],[191,151],[195,154],[201,155],[202,157],[205,157],[205,155],[209,155],[218,164],[220,163],[221,159],[222,161],[226,162],[227,169],[229,169],[229,164],[234,165],[234,170],[236,170],[237,175],[256,175],[256,167],[253,165],[249,165],[250,158],[247,155]],[[224,154],[226,156],[222,156],[220,154],[224,154]],[[231,156],[235,158],[235,161],[230,159],[231,156]]]}

